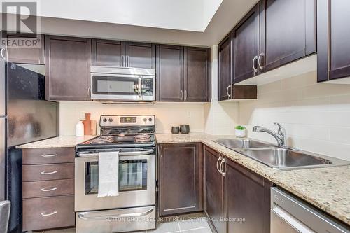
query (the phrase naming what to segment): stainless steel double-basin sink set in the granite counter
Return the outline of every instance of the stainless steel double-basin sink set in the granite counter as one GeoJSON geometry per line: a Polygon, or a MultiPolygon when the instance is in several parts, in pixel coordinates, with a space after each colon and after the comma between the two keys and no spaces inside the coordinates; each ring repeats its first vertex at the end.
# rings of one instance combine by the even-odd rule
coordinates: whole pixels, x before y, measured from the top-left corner
{"type": "Polygon", "coordinates": [[[279,148],[253,139],[219,139],[214,142],[280,170],[335,167],[350,164],[346,160],[293,148],[279,148]]]}

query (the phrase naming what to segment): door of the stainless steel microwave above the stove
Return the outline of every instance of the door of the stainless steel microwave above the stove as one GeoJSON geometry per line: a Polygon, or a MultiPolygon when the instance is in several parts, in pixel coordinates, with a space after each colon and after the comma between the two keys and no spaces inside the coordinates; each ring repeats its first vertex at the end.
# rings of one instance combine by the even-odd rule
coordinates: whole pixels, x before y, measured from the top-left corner
{"type": "Polygon", "coordinates": [[[142,76],[91,73],[91,99],[141,101],[142,76]]]}

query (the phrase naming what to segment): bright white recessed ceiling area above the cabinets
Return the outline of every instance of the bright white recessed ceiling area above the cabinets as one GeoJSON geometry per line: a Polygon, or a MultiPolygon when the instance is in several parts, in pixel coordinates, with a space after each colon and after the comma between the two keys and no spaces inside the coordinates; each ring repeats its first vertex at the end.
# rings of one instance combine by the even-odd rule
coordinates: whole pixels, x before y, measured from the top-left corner
{"type": "Polygon", "coordinates": [[[38,15],[204,31],[223,0],[38,0],[38,15]]]}

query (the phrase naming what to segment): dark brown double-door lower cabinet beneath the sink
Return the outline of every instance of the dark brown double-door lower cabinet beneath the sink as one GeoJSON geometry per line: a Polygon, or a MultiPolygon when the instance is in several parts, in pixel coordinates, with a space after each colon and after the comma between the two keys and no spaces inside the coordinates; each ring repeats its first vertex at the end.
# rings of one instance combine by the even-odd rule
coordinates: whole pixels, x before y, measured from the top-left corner
{"type": "Polygon", "coordinates": [[[272,183],[211,148],[204,150],[205,213],[216,233],[268,233],[272,183]]]}

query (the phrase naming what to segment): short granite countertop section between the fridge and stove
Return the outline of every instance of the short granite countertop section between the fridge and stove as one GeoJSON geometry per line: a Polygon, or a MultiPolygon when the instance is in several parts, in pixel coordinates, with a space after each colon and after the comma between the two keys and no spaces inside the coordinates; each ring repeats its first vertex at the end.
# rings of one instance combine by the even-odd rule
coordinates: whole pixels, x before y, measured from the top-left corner
{"type": "Polygon", "coordinates": [[[57,147],[74,147],[83,141],[94,138],[95,136],[57,136],[52,139],[45,139],[42,141],[36,141],[34,143],[27,143],[20,146],[16,146],[18,149],[30,149],[30,148],[57,148],[57,147]]]}

